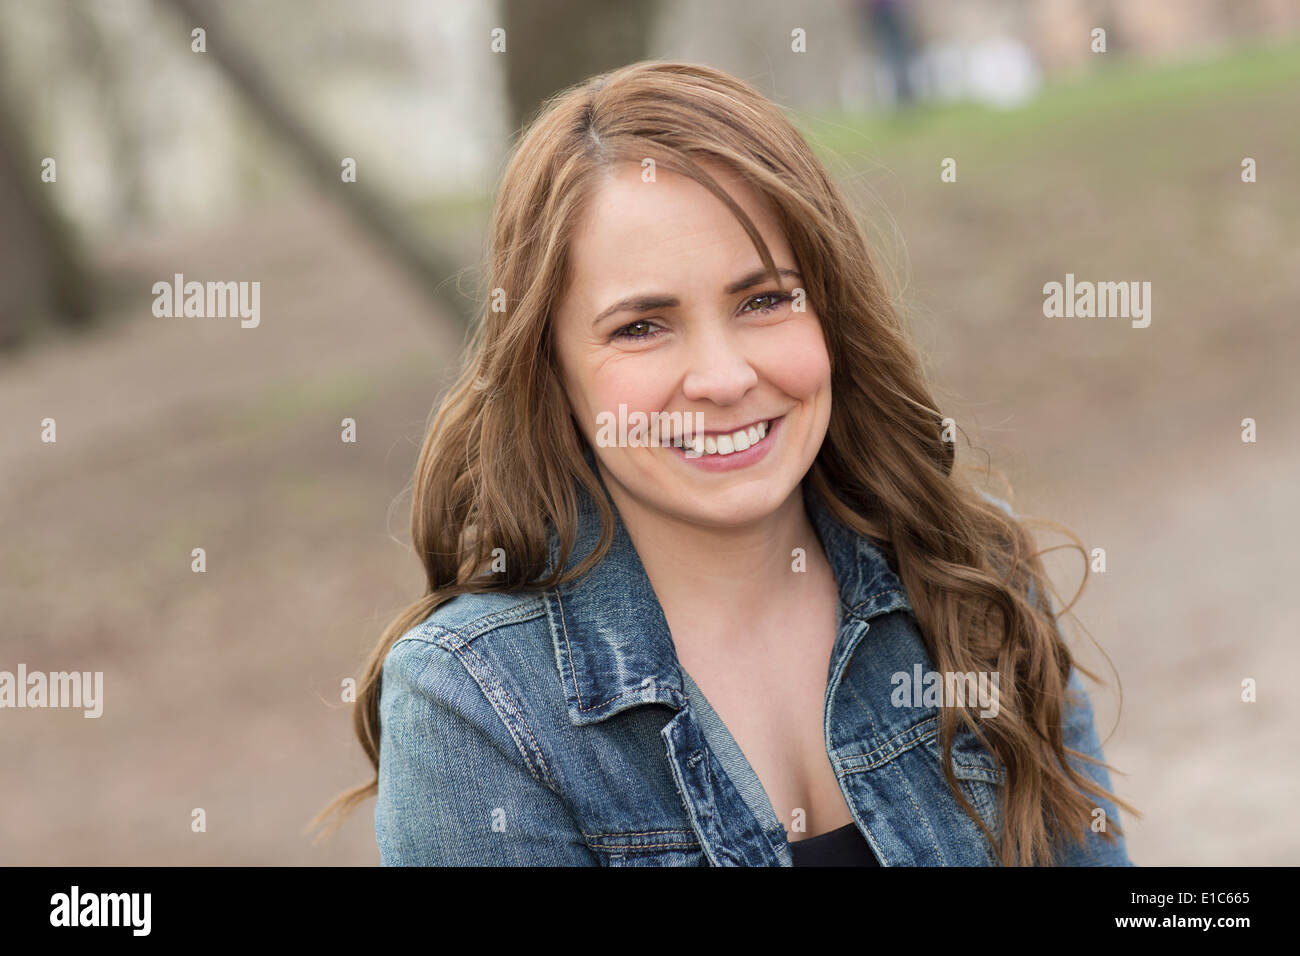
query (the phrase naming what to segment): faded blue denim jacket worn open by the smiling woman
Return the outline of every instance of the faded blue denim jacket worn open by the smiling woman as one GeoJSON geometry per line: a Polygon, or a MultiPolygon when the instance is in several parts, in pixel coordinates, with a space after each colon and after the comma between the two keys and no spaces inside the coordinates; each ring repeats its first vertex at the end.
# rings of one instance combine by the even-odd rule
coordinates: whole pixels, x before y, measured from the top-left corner
{"type": "MultiPolygon", "coordinates": [[[[892,702],[896,675],[933,667],[901,580],[875,544],[803,486],[840,592],[826,752],[854,823],[883,866],[997,865],[944,779],[939,709],[892,702]]],[[[783,822],[680,666],[610,507],[612,546],[578,581],[458,596],[393,645],[374,810],[384,865],[792,865],[783,822]]],[[[594,502],[578,486],[567,566],[598,537],[594,502]]],[[[1065,745],[1104,760],[1078,671],[1070,687],[1082,702],[1063,718],[1065,745]]],[[[1104,767],[1069,760],[1110,790],[1104,767]]],[[[1005,770],[965,728],[953,770],[996,834],[1005,770]]],[[[1119,819],[1109,801],[1097,805],[1119,819]]],[[[1091,831],[1056,862],[1132,865],[1122,836],[1112,844],[1091,831]]]]}

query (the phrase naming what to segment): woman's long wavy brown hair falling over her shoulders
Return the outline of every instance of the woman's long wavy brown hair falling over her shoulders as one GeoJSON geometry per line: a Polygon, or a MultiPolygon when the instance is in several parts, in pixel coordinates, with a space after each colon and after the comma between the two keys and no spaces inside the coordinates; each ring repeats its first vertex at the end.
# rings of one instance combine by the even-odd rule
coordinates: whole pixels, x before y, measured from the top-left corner
{"type": "MultiPolygon", "coordinates": [[[[944,777],[1000,861],[1048,864],[1062,840],[1082,844],[1095,805],[1084,793],[1136,816],[1066,761],[1062,717],[1074,661],[1048,598],[1028,597],[1031,584],[1036,594],[1049,593],[1043,551],[1024,520],[985,499],[962,477],[965,467],[954,470],[956,442],[942,436],[944,416],[919,355],[840,190],[758,91],[708,66],[663,61],[632,64],[552,96],[504,170],[481,319],[416,466],[411,538],[428,587],[384,631],[358,692],[356,735],[376,770],[380,679],[398,637],[456,594],[554,588],[593,567],[612,540],[614,516],[560,386],[551,311],[593,185],[611,164],[646,157],[718,196],[774,280],[776,267],[754,224],[699,161],[734,170],[775,208],[831,355],[831,421],[806,480],[838,520],[885,549],[935,667],[998,674],[994,719],[980,719],[972,705],[941,708],[939,732],[944,777]],[[554,440],[537,441],[540,434],[554,440]],[[566,575],[549,568],[547,536],[552,524],[563,568],[575,540],[575,481],[598,503],[602,537],[566,575]],[[494,548],[511,555],[507,572],[480,575],[494,548]],[[1006,770],[1000,834],[953,775],[958,721],[1006,770]]],[[[1084,585],[1087,572],[1084,561],[1084,585]]],[[[311,826],[335,812],[342,818],[377,792],[376,773],[338,795],[311,826]]],[[[1112,842],[1112,830],[1123,832],[1118,821],[1108,825],[1112,842]]]]}

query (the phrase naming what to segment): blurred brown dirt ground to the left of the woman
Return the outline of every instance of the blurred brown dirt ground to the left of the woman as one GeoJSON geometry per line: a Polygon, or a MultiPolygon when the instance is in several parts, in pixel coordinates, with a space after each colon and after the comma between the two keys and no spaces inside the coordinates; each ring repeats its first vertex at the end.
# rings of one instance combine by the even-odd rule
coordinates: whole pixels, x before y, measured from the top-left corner
{"type": "Polygon", "coordinates": [[[368,812],[299,831],[364,779],[339,687],[419,593],[399,497],[459,336],[315,203],[174,243],[110,255],[139,317],[0,372],[5,657],[107,701],[6,713],[4,862],[376,862],[368,812]],[[153,317],[173,271],[261,281],[260,326],[153,317]]]}

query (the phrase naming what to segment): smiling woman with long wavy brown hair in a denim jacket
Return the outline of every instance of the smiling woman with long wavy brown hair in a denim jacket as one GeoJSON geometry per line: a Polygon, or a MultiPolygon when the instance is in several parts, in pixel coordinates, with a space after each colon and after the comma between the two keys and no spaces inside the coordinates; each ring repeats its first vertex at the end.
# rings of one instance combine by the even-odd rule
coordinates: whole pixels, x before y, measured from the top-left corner
{"type": "Polygon", "coordinates": [[[377,795],[385,864],[1128,864],[1032,538],[775,105],[554,98],[489,287],[326,813],[377,795]]]}

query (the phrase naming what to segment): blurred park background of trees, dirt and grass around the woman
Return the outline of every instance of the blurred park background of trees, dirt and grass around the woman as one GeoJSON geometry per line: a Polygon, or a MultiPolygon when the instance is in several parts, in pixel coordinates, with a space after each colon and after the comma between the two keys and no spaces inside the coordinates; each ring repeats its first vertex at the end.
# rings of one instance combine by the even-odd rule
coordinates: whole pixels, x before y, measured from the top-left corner
{"type": "Polygon", "coordinates": [[[304,826],[370,774],[342,687],[422,588],[494,183],[642,59],[788,109],[963,460],[1105,549],[1066,632],[1134,861],[1300,862],[1297,0],[0,0],[0,670],[104,672],[99,719],[0,713],[0,862],[378,862],[373,801],[304,826]],[[176,273],[259,325],[156,316],[176,273]],[[1149,328],[1045,319],[1066,273],[1149,328]]]}

